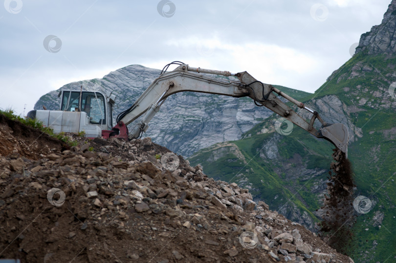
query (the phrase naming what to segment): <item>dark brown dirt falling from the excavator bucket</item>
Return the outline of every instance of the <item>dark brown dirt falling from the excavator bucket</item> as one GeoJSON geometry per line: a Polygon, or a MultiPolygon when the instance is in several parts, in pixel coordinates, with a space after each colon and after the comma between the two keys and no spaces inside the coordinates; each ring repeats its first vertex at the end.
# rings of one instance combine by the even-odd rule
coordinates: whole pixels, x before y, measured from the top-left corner
{"type": "Polygon", "coordinates": [[[321,222],[321,233],[324,241],[338,252],[347,253],[352,237],[352,226],[355,222],[353,210],[353,171],[352,164],[338,149],[331,155],[335,162],[330,165],[328,194],[324,197],[325,211],[321,222]]]}

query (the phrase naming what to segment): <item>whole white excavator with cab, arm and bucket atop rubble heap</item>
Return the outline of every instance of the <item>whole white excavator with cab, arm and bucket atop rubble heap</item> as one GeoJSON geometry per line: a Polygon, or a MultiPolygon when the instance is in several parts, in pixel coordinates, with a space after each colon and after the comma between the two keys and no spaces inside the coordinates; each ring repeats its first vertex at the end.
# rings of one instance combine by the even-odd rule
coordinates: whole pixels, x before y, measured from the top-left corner
{"type": "Polygon", "coordinates": [[[250,97],[259,107],[266,107],[291,121],[317,138],[324,138],[334,144],[343,153],[348,150],[348,128],[341,123],[327,123],[318,112],[309,109],[303,103],[291,98],[271,85],[264,84],[253,78],[246,71],[232,74],[219,71],[191,67],[179,61],[166,65],[158,78],[143,92],[133,105],[114,116],[115,95],[110,92],[90,90],[61,90],[61,110],[31,110],[29,118],[36,118],[44,126],[54,132],[85,132],[87,137],[122,138],[125,140],[139,138],[148,129],[148,123],[172,94],[182,91],[194,91],[226,95],[232,97],[250,97]],[[166,72],[169,66],[178,65],[176,69],[166,72]],[[214,75],[234,76],[232,78],[214,78],[214,75]],[[312,113],[309,121],[283,103],[278,96],[312,113]],[[127,125],[139,118],[142,119],[131,132],[127,125]],[[321,127],[316,130],[315,120],[321,127]]]}

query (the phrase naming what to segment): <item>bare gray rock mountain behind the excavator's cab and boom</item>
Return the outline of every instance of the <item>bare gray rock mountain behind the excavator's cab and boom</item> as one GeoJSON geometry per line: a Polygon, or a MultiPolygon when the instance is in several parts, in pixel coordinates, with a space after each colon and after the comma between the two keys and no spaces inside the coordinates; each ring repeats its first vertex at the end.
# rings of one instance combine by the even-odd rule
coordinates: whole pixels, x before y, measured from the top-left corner
{"type": "MultiPolygon", "coordinates": [[[[140,65],[126,66],[110,72],[102,79],[69,83],[51,91],[37,101],[34,109],[59,110],[61,89],[79,89],[88,84],[99,90],[110,90],[116,96],[117,114],[129,108],[143,91],[159,76],[160,70],[140,65]]],[[[199,149],[223,141],[238,140],[261,120],[272,114],[257,107],[250,98],[180,92],[167,98],[149,123],[144,136],[171,151],[190,156],[199,149]]],[[[131,130],[134,124],[129,125],[131,130]]]]}

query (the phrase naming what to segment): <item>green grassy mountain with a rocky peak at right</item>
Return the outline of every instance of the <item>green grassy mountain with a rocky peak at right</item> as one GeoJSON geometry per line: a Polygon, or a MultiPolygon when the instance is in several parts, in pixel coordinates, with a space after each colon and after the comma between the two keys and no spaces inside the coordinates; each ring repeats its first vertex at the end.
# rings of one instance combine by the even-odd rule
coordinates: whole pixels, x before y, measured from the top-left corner
{"type": "MultiPolygon", "coordinates": [[[[393,0],[381,24],[361,35],[353,57],[301,99],[325,121],[349,128],[355,196],[370,200],[358,203],[368,210],[356,209],[353,245],[345,248],[355,262],[396,261],[395,31],[393,0]]],[[[312,229],[324,212],[321,199],[327,193],[333,146],[298,127],[279,134],[274,127],[278,118],[271,115],[242,139],[201,149],[189,160],[200,163],[208,176],[250,188],[255,199],[263,198],[271,209],[312,229]]]]}

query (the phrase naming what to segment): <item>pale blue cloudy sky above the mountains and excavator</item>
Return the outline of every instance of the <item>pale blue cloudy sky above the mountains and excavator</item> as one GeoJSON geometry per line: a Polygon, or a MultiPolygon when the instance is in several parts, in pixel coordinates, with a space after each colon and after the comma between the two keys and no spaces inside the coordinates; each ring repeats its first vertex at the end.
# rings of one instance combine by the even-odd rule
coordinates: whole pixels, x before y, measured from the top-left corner
{"type": "Polygon", "coordinates": [[[314,92],[391,2],[1,1],[0,109],[17,114],[67,83],[175,60],[314,92]]]}

